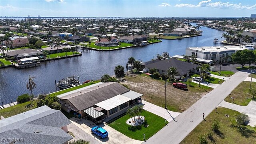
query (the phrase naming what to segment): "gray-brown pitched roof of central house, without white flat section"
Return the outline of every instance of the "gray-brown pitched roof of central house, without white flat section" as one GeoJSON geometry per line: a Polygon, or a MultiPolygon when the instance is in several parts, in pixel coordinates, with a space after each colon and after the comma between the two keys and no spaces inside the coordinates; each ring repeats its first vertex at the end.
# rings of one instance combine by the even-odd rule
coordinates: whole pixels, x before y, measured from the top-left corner
{"type": "Polygon", "coordinates": [[[82,111],[94,104],[128,91],[129,90],[126,87],[122,86],[118,82],[107,82],[60,97],[60,99],[68,100],[79,111],[82,111]]]}

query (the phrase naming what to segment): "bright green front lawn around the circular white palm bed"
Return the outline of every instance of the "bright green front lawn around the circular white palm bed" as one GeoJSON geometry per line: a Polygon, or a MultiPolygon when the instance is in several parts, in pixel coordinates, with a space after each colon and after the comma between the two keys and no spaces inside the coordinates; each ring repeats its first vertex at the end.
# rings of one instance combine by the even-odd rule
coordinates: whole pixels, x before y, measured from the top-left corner
{"type": "MultiPolygon", "coordinates": [[[[130,118],[129,114],[126,114],[114,122],[111,122],[109,126],[135,140],[143,140],[143,134],[146,134],[145,139],[147,140],[156,132],[161,130],[164,126],[166,126],[164,123],[164,118],[152,114],[151,112],[142,112],[141,116],[145,116],[145,124],[149,125],[147,128],[144,127],[144,124],[137,127],[126,124],[126,121],[130,118]]],[[[168,124],[167,121],[166,123],[168,124]]]]}

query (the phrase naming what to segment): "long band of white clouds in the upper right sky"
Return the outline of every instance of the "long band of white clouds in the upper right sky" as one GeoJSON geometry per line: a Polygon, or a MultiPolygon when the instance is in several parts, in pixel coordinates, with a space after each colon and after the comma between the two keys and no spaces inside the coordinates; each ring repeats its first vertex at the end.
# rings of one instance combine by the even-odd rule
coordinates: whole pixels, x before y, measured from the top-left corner
{"type": "Polygon", "coordinates": [[[236,10],[255,10],[256,4],[253,6],[249,5],[242,5],[242,3],[239,4],[232,4],[230,2],[212,2],[211,0],[204,0],[198,3],[198,5],[194,4],[176,4],[175,7],[211,7],[211,8],[232,8],[236,10]]]}

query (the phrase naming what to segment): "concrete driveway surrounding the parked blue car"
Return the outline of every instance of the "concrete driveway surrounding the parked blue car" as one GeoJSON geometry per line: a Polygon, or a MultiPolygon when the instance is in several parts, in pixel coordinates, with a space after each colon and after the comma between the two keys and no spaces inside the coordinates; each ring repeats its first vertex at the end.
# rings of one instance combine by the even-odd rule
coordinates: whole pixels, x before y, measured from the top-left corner
{"type": "Polygon", "coordinates": [[[85,120],[84,118],[77,120],[76,118],[70,118],[70,121],[76,125],[78,128],[82,129],[85,133],[91,136],[91,138],[94,138],[94,140],[97,140],[98,142],[102,144],[141,144],[143,141],[134,140],[132,138],[129,138],[128,136],[125,136],[121,132],[118,132],[114,128],[111,128],[108,126],[105,122],[103,124],[99,125],[91,125],[92,122],[90,120],[85,120]],[[104,128],[106,131],[108,131],[108,137],[100,139],[95,134],[92,134],[91,128],[94,126],[100,126],[104,128]]]}

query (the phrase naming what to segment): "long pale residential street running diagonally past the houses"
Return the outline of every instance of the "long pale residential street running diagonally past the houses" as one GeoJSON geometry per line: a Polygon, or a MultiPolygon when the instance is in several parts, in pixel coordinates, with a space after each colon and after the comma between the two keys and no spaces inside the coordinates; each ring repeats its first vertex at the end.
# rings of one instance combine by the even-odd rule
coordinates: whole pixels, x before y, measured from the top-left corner
{"type": "MultiPolygon", "coordinates": [[[[255,70],[250,70],[252,72],[255,70]]],[[[188,110],[176,117],[176,121],[171,121],[154,136],[147,140],[149,144],[178,144],[180,143],[205,117],[217,107],[230,92],[240,84],[247,76],[248,72],[236,72],[234,75],[216,87],[210,93],[203,96],[188,110]]],[[[206,117],[207,120],[207,117],[206,117]]]]}

